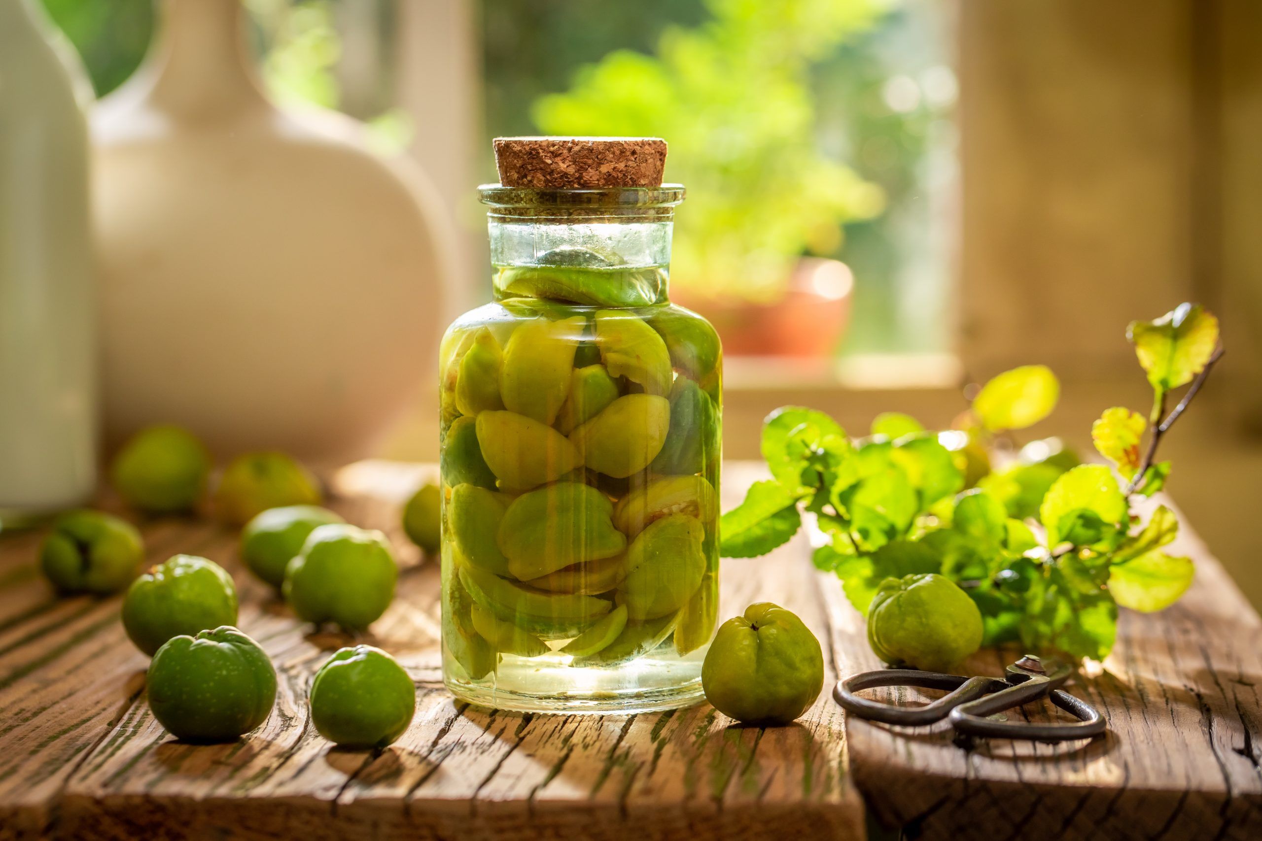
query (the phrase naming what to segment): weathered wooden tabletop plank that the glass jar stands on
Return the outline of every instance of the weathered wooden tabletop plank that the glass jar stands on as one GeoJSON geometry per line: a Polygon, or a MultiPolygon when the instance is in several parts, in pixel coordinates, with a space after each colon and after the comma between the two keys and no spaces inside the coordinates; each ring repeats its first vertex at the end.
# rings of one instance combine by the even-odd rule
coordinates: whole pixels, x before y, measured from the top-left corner
{"type": "MultiPolygon", "coordinates": [[[[728,483],[728,504],[745,473],[728,483]]],[[[439,673],[437,565],[419,564],[394,527],[416,477],[363,469],[343,477],[352,496],[334,503],[351,522],[386,528],[405,566],[366,637],[418,686],[411,728],[382,751],[336,749],[310,728],[310,676],[350,638],[294,620],[244,572],[235,532],[193,519],[143,526],[150,560],[189,551],[232,572],[240,625],[278,668],[264,726],[208,746],[172,739],[149,714],[145,659],[126,642],[117,599],[56,600],[32,569],[38,536],[0,542],[0,581],[14,581],[0,594],[0,838],[863,836],[843,716],[827,695],[771,730],[733,726],[708,705],[531,716],[456,702],[439,673]]],[[[771,599],[828,639],[800,550],[724,561],[723,614],[771,599]]]]}

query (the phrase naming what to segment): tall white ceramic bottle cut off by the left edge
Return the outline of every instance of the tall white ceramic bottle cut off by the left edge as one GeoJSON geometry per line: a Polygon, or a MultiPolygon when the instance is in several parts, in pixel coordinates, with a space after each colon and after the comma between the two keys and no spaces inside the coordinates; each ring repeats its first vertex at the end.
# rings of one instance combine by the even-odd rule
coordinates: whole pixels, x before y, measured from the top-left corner
{"type": "Polygon", "coordinates": [[[0,530],[96,485],[91,87],[37,0],[0,0],[0,530]]]}

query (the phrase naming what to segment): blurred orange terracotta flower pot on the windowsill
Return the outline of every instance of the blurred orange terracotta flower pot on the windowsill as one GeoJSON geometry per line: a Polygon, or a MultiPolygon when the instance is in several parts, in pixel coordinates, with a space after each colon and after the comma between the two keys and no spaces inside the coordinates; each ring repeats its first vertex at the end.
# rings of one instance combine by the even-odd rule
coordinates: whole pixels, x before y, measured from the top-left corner
{"type": "Polygon", "coordinates": [[[803,257],[784,296],[771,304],[676,290],[671,298],[709,319],[726,356],[823,358],[846,333],[853,287],[846,264],[803,257]]]}

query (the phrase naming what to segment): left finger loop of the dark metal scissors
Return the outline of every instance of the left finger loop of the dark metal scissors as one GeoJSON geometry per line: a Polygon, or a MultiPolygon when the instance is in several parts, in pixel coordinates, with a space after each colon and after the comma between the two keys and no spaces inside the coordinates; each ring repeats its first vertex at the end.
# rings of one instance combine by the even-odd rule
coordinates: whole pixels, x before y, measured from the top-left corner
{"type": "MultiPolygon", "coordinates": [[[[854,715],[885,724],[917,726],[941,721],[960,706],[987,692],[1008,686],[993,677],[960,677],[941,672],[921,672],[914,668],[883,668],[859,672],[837,682],[833,699],[854,715]],[[943,697],[924,706],[899,706],[859,697],[856,692],[877,686],[916,686],[926,690],[952,690],[943,697]]],[[[974,701],[976,702],[976,701],[974,701]]]]}

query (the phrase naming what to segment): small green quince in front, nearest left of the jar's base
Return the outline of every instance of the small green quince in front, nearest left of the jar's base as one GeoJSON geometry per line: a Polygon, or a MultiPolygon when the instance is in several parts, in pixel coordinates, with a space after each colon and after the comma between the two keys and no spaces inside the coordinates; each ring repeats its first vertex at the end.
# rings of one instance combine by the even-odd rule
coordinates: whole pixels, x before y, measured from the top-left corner
{"type": "Polygon", "coordinates": [[[372,646],[339,648],[312,681],[312,724],[347,748],[385,748],[416,712],[416,685],[394,657],[372,646]]]}

